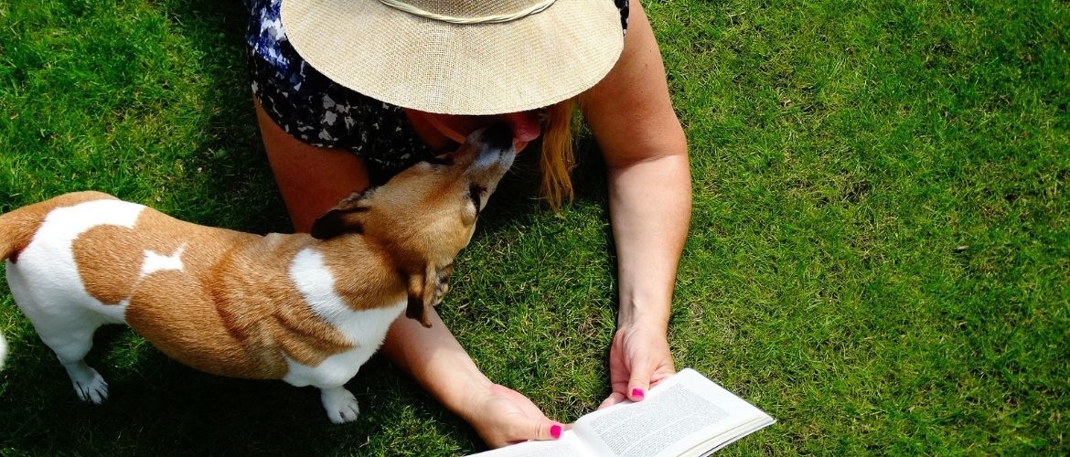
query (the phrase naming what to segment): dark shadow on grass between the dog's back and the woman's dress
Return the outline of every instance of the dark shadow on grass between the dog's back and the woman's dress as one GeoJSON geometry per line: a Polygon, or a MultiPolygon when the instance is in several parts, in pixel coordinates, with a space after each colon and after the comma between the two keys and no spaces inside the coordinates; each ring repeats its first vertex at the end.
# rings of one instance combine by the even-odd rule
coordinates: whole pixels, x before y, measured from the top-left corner
{"type": "Polygon", "coordinates": [[[292,231],[253,108],[243,2],[183,0],[170,7],[169,16],[197,46],[205,68],[199,76],[212,78],[204,94],[211,112],[203,125],[208,140],[192,164],[200,172],[170,197],[168,203],[180,209],[172,215],[254,233],[292,231]]]}

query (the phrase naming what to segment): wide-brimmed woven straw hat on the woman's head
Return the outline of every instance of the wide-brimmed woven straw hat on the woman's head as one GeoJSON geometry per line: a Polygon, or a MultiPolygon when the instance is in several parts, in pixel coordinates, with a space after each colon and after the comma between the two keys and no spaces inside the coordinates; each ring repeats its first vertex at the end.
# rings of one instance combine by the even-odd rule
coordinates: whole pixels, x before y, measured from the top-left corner
{"type": "Polygon", "coordinates": [[[494,115],[594,86],[624,46],[611,0],[284,0],[297,54],[407,108],[494,115]]]}

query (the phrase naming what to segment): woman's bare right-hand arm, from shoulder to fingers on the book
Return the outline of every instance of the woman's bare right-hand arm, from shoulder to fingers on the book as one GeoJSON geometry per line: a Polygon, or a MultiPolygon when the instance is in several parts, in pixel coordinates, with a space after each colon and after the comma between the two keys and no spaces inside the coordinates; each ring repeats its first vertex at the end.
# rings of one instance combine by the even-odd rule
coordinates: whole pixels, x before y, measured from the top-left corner
{"type": "Polygon", "coordinates": [[[687,141],[673,111],[654,31],[631,3],[621,60],[581,98],[606,157],[617,249],[620,316],[610,349],[613,394],[642,399],[674,372],[667,326],[691,215],[687,141]]]}

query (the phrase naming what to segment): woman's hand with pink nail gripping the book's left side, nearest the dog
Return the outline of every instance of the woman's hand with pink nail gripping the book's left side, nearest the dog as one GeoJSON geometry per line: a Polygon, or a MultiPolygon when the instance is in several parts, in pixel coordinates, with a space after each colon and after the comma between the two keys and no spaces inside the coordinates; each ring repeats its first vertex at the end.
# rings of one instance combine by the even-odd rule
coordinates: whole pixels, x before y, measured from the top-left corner
{"type": "Polygon", "coordinates": [[[528,397],[500,384],[472,392],[462,417],[490,447],[556,440],[566,428],[542,414],[528,397]]]}

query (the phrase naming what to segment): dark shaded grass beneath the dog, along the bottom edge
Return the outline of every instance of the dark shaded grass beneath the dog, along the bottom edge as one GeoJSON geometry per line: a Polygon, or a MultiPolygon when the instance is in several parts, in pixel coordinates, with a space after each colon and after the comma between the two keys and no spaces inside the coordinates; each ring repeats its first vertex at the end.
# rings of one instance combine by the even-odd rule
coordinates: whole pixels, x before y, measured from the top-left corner
{"type": "Polygon", "coordinates": [[[119,325],[98,331],[87,357],[109,382],[110,398],[100,406],[77,399],[43,344],[16,342],[16,369],[4,372],[0,396],[4,455],[393,454],[386,451],[399,431],[418,432],[428,421],[456,430],[464,446],[480,445],[462,421],[378,356],[347,384],[361,416],[334,425],[316,389],[203,374],[119,325]]]}

